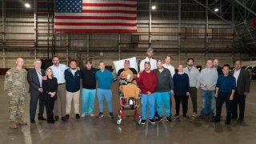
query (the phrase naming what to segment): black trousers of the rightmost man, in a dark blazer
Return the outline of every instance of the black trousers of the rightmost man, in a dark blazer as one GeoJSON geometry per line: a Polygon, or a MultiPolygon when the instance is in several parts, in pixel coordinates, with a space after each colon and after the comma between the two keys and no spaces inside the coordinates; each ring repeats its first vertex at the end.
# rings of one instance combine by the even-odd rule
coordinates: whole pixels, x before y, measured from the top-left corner
{"type": "Polygon", "coordinates": [[[243,120],[245,116],[246,108],[246,96],[234,93],[234,100],[232,102],[232,117],[238,118],[238,106],[239,106],[239,118],[243,120]]]}

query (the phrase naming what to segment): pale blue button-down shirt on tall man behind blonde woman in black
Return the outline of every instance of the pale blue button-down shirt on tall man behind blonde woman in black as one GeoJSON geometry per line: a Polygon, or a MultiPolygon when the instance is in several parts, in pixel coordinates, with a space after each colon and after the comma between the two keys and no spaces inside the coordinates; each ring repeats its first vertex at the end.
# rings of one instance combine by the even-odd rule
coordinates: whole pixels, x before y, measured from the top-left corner
{"type": "Polygon", "coordinates": [[[59,64],[59,66],[50,66],[50,68],[53,70],[54,72],[54,77],[57,78],[58,84],[60,83],[65,83],[65,76],[64,76],[64,72],[66,69],[68,69],[69,67],[64,65],[64,64],[59,64]]]}

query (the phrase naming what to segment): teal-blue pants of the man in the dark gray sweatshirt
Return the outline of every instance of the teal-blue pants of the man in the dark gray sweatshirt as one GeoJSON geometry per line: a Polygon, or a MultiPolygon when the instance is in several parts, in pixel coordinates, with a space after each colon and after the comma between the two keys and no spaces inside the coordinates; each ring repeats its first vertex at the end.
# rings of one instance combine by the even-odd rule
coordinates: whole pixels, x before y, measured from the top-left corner
{"type": "Polygon", "coordinates": [[[156,93],[156,99],[158,103],[158,115],[162,117],[162,103],[165,106],[166,109],[166,117],[169,117],[171,115],[170,112],[170,91],[168,92],[157,92],[156,93]]]}

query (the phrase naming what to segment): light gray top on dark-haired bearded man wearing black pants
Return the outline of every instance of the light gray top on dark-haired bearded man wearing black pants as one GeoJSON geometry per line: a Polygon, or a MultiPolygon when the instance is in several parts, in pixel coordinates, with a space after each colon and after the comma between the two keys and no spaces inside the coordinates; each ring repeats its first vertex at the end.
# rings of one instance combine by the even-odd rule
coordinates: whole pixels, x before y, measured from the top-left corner
{"type": "Polygon", "coordinates": [[[200,82],[199,82],[199,76],[200,76],[200,72],[197,68],[195,68],[194,66],[192,66],[191,70],[189,70],[188,67],[185,67],[183,69],[184,73],[189,75],[190,78],[190,87],[196,87],[199,88],[200,86],[200,82]]]}

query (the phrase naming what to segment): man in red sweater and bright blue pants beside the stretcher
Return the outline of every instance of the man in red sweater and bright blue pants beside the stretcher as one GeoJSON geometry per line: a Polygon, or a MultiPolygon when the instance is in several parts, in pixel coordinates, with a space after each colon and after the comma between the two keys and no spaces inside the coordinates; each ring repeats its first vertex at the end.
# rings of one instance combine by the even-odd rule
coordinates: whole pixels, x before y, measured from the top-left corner
{"type": "Polygon", "coordinates": [[[145,62],[145,70],[137,74],[136,81],[142,90],[142,125],[146,124],[146,111],[149,108],[149,120],[154,124],[155,90],[158,85],[157,74],[150,70],[150,62],[145,62]]]}

